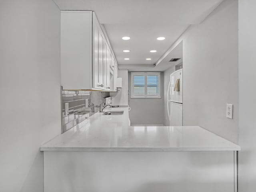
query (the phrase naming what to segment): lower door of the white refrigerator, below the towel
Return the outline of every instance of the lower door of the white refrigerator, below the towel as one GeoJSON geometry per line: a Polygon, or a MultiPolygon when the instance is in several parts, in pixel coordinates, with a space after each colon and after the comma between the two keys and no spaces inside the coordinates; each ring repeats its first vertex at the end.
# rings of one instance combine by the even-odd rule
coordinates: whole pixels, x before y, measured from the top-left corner
{"type": "Polygon", "coordinates": [[[169,102],[170,126],[182,126],[182,104],[169,102]]]}

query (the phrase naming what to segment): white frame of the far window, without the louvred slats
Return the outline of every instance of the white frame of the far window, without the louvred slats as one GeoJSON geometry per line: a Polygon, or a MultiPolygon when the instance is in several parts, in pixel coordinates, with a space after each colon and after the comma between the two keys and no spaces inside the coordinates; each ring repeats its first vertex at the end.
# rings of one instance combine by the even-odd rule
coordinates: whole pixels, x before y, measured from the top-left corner
{"type": "Polygon", "coordinates": [[[131,99],[160,99],[161,98],[161,72],[131,72],[131,99]],[[134,76],[144,76],[145,78],[145,94],[144,95],[134,95],[134,83],[133,77],[134,76]],[[147,77],[150,75],[158,76],[158,95],[150,96],[147,94],[147,77]]]}

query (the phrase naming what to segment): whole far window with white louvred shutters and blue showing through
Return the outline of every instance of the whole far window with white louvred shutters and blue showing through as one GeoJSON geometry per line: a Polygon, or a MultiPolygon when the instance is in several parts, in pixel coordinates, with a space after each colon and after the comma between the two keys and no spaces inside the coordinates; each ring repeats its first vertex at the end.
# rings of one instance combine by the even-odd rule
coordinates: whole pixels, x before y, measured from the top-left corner
{"type": "Polygon", "coordinates": [[[160,72],[131,72],[131,98],[161,98],[160,72]]]}

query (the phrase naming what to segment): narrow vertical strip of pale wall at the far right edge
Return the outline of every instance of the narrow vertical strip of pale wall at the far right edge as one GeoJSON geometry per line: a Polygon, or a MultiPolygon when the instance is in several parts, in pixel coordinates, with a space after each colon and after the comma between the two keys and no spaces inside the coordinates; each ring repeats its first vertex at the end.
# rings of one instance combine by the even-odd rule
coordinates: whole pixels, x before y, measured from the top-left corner
{"type": "Polygon", "coordinates": [[[239,0],[239,180],[240,192],[256,190],[256,1],[239,0]]]}

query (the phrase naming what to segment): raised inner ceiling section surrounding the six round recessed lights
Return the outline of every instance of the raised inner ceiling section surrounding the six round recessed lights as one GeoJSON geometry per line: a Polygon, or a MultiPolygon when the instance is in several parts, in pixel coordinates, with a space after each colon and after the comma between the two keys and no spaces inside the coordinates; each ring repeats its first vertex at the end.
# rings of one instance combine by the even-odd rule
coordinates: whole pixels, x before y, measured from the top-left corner
{"type": "Polygon", "coordinates": [[[174,43],[188,25],[163,25],[163,24],[104,24],[108,33],[112,48],[116,55],[118,64],[153,64],[174,43]],[[130,40],[122,40],[123,36],[131,37],[130,40]],[[156,40],[157,37],[166,37],[163,41],[156,40]],[[129,49],[129,53],[124,53],[129,49]],[[150,53],[150,50],[157,50],[150,53]],[[130,60],[124,60],[124,58],[130,60]],[[152,60],[147,61],[146,58],[152,60]]]}

